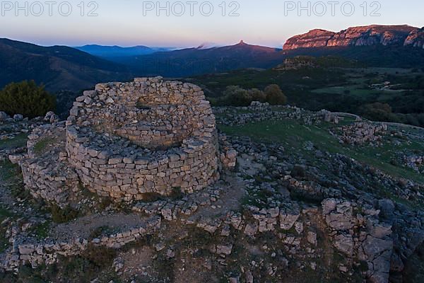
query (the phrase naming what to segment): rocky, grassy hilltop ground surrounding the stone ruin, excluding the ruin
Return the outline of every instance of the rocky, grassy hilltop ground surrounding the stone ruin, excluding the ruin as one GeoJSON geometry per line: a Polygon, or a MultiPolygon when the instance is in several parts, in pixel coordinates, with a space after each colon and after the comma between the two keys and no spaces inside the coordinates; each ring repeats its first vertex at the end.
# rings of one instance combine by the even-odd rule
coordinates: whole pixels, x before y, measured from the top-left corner
{"type": "Polygon", "coordinates": [[[0,281],[423,282],[423,132],[269,105],[214,111],[238,155],[213,186],[131,204],[81,187],[69,207],[31,197],[9,161],[54,120],[3,119],[0,281]]]}

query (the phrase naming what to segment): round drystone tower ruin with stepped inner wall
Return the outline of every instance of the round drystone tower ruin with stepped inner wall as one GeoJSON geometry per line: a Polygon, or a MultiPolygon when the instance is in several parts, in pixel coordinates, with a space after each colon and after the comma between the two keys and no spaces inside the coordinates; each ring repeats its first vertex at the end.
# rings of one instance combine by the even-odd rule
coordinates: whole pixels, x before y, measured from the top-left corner
{"type": "Polygon", "coordinates": [[[76,99],[66,126],[69,162],[98,195],[143,200],[219,178],[215,116],[194,84],[100,83],[76,99]]]}

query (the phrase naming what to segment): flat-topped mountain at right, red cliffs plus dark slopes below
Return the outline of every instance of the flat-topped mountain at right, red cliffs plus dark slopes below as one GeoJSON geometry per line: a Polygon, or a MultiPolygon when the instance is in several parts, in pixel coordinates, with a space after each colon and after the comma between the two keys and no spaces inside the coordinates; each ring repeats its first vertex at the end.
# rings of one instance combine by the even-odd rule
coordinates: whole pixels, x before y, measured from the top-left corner
{"type": "Polygon", "coordinates": [[[424,66],[424,28],[409,25],[367,25],[334,33],[310,30],[291,37],[283,46],[287,57],[338,56],[370,67],[424,66]]]}

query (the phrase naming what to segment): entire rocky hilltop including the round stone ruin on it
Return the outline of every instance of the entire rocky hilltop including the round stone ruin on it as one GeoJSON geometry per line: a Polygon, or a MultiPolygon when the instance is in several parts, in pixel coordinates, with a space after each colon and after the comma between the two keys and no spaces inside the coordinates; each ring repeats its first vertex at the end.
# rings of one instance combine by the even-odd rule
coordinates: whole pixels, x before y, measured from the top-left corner
{"type": "Polygon", "coordinates": [[[86,91],[66,124],[1,113],[0,279],[420,282],[424,129],[212,111],[191,83],[139,78],[86,91]]]}

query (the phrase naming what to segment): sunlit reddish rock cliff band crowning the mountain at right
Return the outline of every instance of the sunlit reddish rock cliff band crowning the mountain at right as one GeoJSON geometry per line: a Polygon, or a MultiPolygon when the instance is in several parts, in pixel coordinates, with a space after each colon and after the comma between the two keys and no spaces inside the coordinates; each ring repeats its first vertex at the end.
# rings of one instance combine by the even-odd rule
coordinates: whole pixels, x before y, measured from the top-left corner
{"type": "Polygon", "coordinates": [[[366,25],[334,33],[328,30],[310,30],[291,37],[283,50],[317,47],[358,46],[414,46],[423,47],[423,29],[409,25],[366,25]]]}

